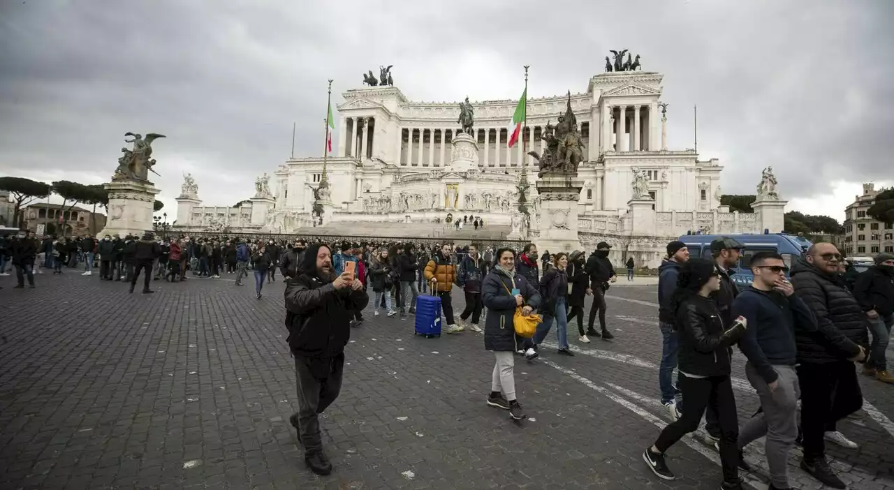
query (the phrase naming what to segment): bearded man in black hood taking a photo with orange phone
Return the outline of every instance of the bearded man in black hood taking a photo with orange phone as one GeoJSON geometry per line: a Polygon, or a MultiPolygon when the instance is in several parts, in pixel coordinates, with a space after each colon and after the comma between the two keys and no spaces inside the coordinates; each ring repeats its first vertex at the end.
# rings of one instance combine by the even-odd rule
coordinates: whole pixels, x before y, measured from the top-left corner
{"type": "Polygon", "coordinates": [[[298,429],[308,468],[328,475],[332,464],[323,452],[318,415],[342,389],[350,312],[366,308],[369,298],[353,275],[334,274],[332,251],[326,245],[311,245],[300,271],[285,290],[286,341],[295,358],[299,400],[298,411],[289,422],[298,429]]]}

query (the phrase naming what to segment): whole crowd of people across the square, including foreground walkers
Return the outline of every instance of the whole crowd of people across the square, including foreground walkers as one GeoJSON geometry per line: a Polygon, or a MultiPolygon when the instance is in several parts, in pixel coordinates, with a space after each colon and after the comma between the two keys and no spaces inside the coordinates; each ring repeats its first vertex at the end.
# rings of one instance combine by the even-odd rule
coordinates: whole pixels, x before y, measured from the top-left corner
{"type": "MultiPolygon", "coordinates": [[[[187,271],[196,277],[235,275],[239,286],[251,269],[260,300],[264,283],[275,281],[279,271],[286,283],[287,342],[299,392],[299,410],[290,421],[308,468],[325,475],[332,465],[323,452],[317,417],[338,396],[350,328],[362,325],[370,300],[374,316],[406,319],[415,314],[420,293],[439,297],[444,332],[459,334],[468,327],[483,333],[485,350],[493,352],[487,405],[523,419],[515,389],[516,356],[536,359],[553,324],[557,353],[574,356],[567,335],[573,319],[578,342],[614,337],[605,317],[605,291],[617,280],[610,249],[601,242],[585,258],[580,250],[540,255],[534,243],[517,251],[474,243],[157,240],[151,233],[139,239],[38,241],[29,233],[0,242],[0,274],[11,262],[16,287],[24,287],[26,277],[34,287],[36,262],[61,274],[82,260],[82,274],[91,275],[98,260],[101,280],[129,282],[132,292],[142,273],[143,292],[151,292],[152,278],[183,281],[187,271]],[[458,317],[452,308],[454,286],[465,296],[458,317]],[[586,296],[593,301],[585,330],[586,296]],[[542,321],[533,336],[519,335],[518,317],[534,313],[542,321]]],[[[847,281],[845,260],[831,243],[815,243],[790,261],[760,251],[748,258],[753,283],[739,290],[730,275],[744,260],[745,246],[723,238],[710,249],[711,259],[690,258],[685,243],[671,241],[659,269],[659,389],[673,421],[645,450],[645,463],[658,477],[673,479],[665,454],[704,417],[721,455],[722,488],[741,487],[738,471],[749,470],[744,448],[762,436],[771,489],[790,488],[788,456],[794,444],[804,448],[802,469],[824,485],[845,488],[826,459],[825,444],[858,447],[837,428],[839,420],[862,406],[855,362],[864,364],[865,376],[894,383],[885,359],[894,324],[894,255],[878,255],[873,267],[847,281]],[[760,410],[741,428],[730,378],[732,357],[739,355],[734,346],[746,359],[746,377],[760,401],[760,410]]],[[[632,261],[625,266],[629,279],[632,261]]]]}

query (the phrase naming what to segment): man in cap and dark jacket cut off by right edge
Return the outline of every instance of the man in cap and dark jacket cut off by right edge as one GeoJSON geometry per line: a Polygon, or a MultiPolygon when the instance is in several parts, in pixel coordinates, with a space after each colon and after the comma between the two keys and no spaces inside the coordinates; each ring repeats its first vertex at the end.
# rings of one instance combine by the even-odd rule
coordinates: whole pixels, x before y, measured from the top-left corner
{"type": "Polygon", "coordinates": [[[863,374],[894,383],[894,375],[888,372],[885,359],[891,325],[894,325],[894,254],[882,253],[873,261],[875,266],[857,275],[854,283],[854,297],[869,317],[873,334],[873,345],[863,374]]]}

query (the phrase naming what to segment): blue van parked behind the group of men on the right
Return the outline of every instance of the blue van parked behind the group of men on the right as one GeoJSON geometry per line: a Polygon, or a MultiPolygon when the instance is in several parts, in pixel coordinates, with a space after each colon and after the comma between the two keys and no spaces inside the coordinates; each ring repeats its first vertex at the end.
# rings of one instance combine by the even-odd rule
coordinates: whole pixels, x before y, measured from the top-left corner
{"type": "MultiPolygon", "coordinates": [[[[690,258],[711,259],[711,242],[730,237],[736,239],[745,249],[738,264],[730,269],[733,275],[730,277],[737,285],[750,284],[755,275],[751,273],[751,258],[757,252],[772,251],[780,254],[786,266],[791,267],[795,258],[804,255],[805,251],[813,244],[804,237],[789,235],[786,233],[762,234],[729,234],[729,235],[683,235],[679,241],[686,243],[690,258]]],[[[787,274],[788,275],[788,274],[787,274]]]]}

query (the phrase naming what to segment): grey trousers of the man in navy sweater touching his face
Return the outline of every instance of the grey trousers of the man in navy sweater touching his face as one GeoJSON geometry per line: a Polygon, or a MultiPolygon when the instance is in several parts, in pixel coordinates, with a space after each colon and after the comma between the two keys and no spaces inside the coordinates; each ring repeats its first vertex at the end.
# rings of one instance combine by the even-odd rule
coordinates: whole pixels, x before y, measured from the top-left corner
{"type": "Polygon", "coordinates": [[[745,365],[748,381],[761,398],[763,411],[748,419],[738,432],[738,447],[743,448],[755,439],[767,436],[764,453],[770,467],[770,481],[779,488],[789,487],[789,452],[797,438],[797,400],[801,389],[797,384],[794,366],[773,366],[776,370],[776,389],[772,392],[751,362],[745,365]]]}

